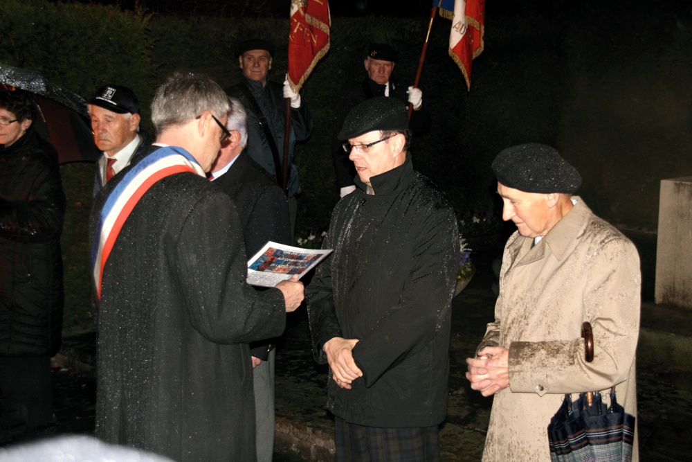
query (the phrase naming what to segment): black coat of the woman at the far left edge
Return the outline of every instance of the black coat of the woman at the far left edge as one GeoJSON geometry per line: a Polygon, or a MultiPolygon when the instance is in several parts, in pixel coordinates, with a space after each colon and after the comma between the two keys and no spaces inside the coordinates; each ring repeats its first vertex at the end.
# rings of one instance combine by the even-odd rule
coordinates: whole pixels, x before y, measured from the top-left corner
{"type": "Polygon", "coordinates": [[[64,213],[57,152],[30,128],[0,149],[0,355],[57,353],[64,213]]]}

